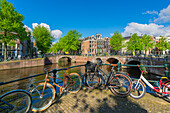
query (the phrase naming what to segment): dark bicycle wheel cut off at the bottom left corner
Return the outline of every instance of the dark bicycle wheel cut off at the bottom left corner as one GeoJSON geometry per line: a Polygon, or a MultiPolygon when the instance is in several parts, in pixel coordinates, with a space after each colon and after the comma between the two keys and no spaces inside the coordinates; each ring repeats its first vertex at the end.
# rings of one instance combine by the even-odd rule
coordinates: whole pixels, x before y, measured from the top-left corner
{"type": "Polygon", "coordinates": [[[25,90],[12,90],[0,97],[0,112],[28,113],[32,104],[31,95],[25,90]],[[5,102],[5,103],[4,103],[5,102]]]}

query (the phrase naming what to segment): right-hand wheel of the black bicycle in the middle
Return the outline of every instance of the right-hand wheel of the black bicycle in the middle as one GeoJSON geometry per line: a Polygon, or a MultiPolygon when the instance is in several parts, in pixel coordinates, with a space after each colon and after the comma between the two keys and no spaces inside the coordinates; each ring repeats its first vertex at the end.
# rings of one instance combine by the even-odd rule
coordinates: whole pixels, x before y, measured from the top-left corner
{"type": "Polygon", "coordinates": [[[125,74],[115,74],[110,80],[110,90],[120,97],[128,96],[132,89],[132,81],[125,74]]]}

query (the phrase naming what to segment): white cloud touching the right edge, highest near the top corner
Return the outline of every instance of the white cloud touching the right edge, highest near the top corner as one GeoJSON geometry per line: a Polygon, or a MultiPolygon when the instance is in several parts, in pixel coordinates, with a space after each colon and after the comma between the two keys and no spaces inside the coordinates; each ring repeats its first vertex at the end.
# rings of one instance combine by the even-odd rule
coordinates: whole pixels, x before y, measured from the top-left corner
{"type": "Polygon", "coordinates": [[[159,16],[158,18],[154,19],[154,22],[156,23],[170,22],[170,5],[167,8],[162,9],[158,16],[159,16]]]}

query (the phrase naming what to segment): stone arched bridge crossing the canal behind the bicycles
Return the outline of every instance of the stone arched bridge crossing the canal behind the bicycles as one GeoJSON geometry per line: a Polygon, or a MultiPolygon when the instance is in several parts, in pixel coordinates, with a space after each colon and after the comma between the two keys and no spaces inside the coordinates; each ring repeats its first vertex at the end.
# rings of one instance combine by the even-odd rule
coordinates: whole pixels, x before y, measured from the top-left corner
{"type": "MultiPolygon", "coordinates": [[[[85,63],[87,61],[96,62],[97,60],[101,60],[103,63],[121,63],[121,64],[143,64],[143,65],[164,65],[165,63],[168,63],[170,65],[170,62],[164,62],[164,61],[158,61],[154,59],[144,59],[143,57],[132,57],[132,56],[76,56],[76,55],[59,55],[56,57],[53,57],[52,59],[55,59],[52,61],[52,63],[59,63],[60,59],[66,58],[68,62],[74,62],[74,63],[85,63]]],[[[51,58],[49,58],[50,60],[51,58]]],[[[51,60],[52,60],[51,59],[51,60]]],[[[50,61],[51,61],[50,60],[50,61]]],[[[164,76],[164,68],[147,68],[147,70],[154,74],[159,74],[164,76]]],[[[170,70],[169,70],[170,71],[170,70]]],[[[170,76],[170,75],[169,75],[170,76]]]]}

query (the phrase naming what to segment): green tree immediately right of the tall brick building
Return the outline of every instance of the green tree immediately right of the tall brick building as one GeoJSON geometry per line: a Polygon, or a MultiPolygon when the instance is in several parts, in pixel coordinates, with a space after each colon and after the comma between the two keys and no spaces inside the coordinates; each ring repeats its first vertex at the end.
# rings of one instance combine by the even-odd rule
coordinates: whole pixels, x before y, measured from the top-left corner
{"type": "Polygon", "coordinates": [[[124,41],[124,38],[122,37],[121,33],[119,33],[118,31],[115,31],[113,36],[110,39],[110,46],[112,47],[113,50],[119,51],[120,49],[124,47],[123,41],[124,41]]]}

